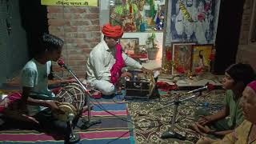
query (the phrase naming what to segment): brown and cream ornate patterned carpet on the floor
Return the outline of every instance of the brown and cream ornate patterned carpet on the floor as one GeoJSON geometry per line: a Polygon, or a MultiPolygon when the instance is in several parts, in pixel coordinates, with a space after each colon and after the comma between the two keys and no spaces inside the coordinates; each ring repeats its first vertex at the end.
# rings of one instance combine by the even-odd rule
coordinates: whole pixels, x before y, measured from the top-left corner
{"type": "MultiPolygon", "coordinates": [[[[184,92],[183,92],[184,93],[184,92]]],[[[176,116],[174,131],[186,137],[186,140],[176,138],[162,139],[164,132],[170,131],[171,119],[174,114],[174,106],[166,106],[174,99],[175,94],[166,94],[160,92],[161,96],[156,101],[149,102],[130,102],[128,104],[128,112],[134,122],[134,138],[138,144],[144,143],[194,143],[197,142],[199,135],[190,130],[188,126],[194,122],[194,112],[202,108],[205,102],[209,103],[207,110],[214,113],[222,109],[222,99],[224,98],[224,90],[213,90],[202,93],[200,97],[192,98],[182,102],[178,106],[178,114],[176,116]],[[162,106],[166,106],[162,110],[158,110],[162,106]]],[[[183,95],[187,98],[189,95],[183,95]]],[[[181,98],[181,99],[182,99],[181,98]]]]}

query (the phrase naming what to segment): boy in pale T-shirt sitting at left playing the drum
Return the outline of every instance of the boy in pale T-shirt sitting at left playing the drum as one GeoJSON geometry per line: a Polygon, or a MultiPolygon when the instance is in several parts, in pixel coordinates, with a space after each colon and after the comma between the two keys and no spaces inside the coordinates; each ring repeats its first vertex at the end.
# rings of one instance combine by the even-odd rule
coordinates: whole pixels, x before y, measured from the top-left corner
{"type": "Polygon", "coordinates": [[[58,130],[68,142],[70,128],[66,122],[54,118],[52,113],[63,114],[54,101],[54,93],[48,90],[48,75],[50,74],[51,61],[58,61],[62,54],[64,42],[52,34],[43,34],[34,58],[22,69],[21,109],[27,110],[28,115],[38,122],[42,130],[53,132],[58,130]]]}

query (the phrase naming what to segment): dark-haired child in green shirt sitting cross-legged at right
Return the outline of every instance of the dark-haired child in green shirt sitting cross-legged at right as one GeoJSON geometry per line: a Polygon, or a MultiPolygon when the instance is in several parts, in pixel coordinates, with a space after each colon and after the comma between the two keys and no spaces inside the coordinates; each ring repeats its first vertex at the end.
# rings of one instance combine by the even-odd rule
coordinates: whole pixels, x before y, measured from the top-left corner
{"type": "MultiPolygon", "coordinates": [[[[222,87],[226,90],[224,108],[216,114],[201,114],[201,118],[191,128],[210,138],[222,138],[225,134],[230,134],[243,121],[242,107],[239,106],[239,102],[242,91],[249,82],[254,80],[254,76],[254,70],[250,65],[238,63],[230,66],[222,80],[222,87]],[[228,116],[230,118],[226,121],[228,116]]],[[[196,113],[199,114],[200,111],[196,113]]]]}

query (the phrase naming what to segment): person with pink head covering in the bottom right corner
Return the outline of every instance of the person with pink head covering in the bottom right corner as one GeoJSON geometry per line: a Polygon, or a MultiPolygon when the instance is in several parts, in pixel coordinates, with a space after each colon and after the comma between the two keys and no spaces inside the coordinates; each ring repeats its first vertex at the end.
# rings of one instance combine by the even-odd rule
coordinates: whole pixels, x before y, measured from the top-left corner
{"type": "Polygon", "coordinates": [[[211,138],[201,138],[197,144],[256,144],[256,81],[250,82],[246,89],[242,92],[242,98],[240,100],[242,106],[242,114],[245,120],[238,128],[232,131],[222,140],[214,140],[211,138]]]}

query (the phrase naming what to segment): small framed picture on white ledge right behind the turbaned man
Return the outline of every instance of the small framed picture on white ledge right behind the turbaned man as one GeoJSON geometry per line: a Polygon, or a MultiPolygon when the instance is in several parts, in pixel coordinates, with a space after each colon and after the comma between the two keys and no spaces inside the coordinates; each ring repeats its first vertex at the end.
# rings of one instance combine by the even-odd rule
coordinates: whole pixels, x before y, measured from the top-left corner
{"type": "Polygon", "coordinates": [[[122,50],[128,55],[136,54],[139,51],[138,38],[120,38],[120,44],[122,50]]]}

